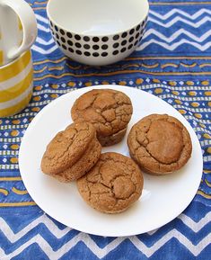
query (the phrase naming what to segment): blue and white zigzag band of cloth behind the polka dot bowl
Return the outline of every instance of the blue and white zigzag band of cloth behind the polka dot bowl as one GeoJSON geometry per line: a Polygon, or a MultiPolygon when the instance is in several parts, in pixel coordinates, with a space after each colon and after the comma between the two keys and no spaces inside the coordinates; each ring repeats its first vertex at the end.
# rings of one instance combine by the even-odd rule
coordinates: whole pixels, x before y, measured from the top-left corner
{"type": "MultiPolygon", "coordinates": [[[[46,33],[46,39],[48,40],[41,40],[40,37],[38,37],[36,43],[32,46],[32,49],[41,54],[48,55],[57,50],[57,45],[49,33],[48,19],[42,17],[40,14],[36,14],[36,18],[38,20],[39,30],[42,31],[42,33],[46,33]]],[[[169,51],[178,49],[183,44],[188,44],[200,51],[206,51],[211,47],[211,30],[200,35],[199,29],[207,22],[211,22],[211,11],[205,8],[199,9],[193,14],[189,14],[178,8],[174,8],[163,15],[151,10],[145,36],[142,44],[136,51],[149,48],[154,44],[164,49],[168,49],[169,51]],[[197,19],[199,20],[195,21],[197,19]],[[186,26],[186,29],[178,28],[178,22],[182,22],[186,26]],[[154,26],[156,29],[154,29],[154,26]],[[194,34],[191,30],[189,31],[189,28],[195,28],[199,31],[196,31],[197,34],[194,34]],[[166,36],[166,29],[174,32],[171,35],[166,36]],[[198,36],[198,34],[200,36],[198,36]],[[182,36],[183,38],[180,39],[182,36]],[[150,38],[150,40],[147,40],[148,38],[150,38]],[[199,44],[203,42],[204,44],[199,44]]]]}

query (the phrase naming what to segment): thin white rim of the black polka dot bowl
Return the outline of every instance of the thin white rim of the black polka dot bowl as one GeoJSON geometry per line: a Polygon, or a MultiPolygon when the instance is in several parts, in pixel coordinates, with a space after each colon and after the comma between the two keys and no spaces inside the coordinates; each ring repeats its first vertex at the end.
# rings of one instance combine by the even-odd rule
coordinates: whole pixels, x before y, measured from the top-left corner
{"type": "Polygon", "coordinates": [[[125,31],[129,31],[133,28],[135,28],[138,24],[144,22],[145,20],[147,20],[147,17],[148,17],[148,14],[149,14],[149,0],[141,0],[141,1],[145,1],[146,5],[147,5],[147,10],[145,12],[145,15],[143,16],[143,19],[137,23],[134,23],[132,26],[129,26],[129,27],[126,27],[126,29],[124,31],[115,31],[114,33],[107,33],[107,34],[85,34],[83,32],[77,32],[77,31],[70,31],[70,30],[67,30],[63,25],[59,24],[57,21],[55,21],[54,19],[52,19],[52,16],[50,15],[50,12],[49,12],[49,5],[52,1],[59,1],[59,0],[48,0],[48,3],[47,3],[47,6],[46,6],[46,12],[47,12],[47,16],[48,16],[48,20],[49,22],[53,22],[55,25],[57,25],[57,27],[59,29],[62,29],[64,31],[67,31],[67,32],[70,32],[72,34],[78,34],[82,37],[84,36],[88,36],[88,37],[112,37],[113,35],[115,34],[121,34],[125,31]]]}

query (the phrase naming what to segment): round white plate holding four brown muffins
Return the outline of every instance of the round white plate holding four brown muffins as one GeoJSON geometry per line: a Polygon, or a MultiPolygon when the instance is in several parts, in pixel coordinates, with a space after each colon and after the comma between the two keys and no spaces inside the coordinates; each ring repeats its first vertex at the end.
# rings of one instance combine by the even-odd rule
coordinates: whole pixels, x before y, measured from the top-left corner
{"type": "MultiPolygon", "coordinates": [[[[115,151],[129,156],[127,134],[119,144],[103,148],[102,152],[115,151]]],[[[198,138],[189,122],[170,104],[136,88],[118,85],[86,87],[64,94],[49,103],[31,121],[22,139],[19,154],[22,181],[31,198],[55,220],[86,233],[121,237],[158,229],[176,218],[186,209],[198,191],[202,175],[202,154],[198,138]],[[77,191],[75,183],[62,184],[44,175],[40,161],[48,142],[59,130],[72,122],[70,109],[81,94],[93,88],[112,88],[127,94],[133,103],[132,125],[151,113],[168,113],[179,119],[189,130],[192,156],[186,166],[171,175],[144,175],[144,191],[138,202],[119,214],[103,214],[88,206],[77,191]]]]}

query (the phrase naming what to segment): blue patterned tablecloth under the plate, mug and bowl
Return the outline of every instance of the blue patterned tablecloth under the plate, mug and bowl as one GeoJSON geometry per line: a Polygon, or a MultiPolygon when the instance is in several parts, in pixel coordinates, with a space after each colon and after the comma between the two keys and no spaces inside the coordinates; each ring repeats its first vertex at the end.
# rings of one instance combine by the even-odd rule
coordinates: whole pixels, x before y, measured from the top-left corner
{"type": "Polygon", "coordinates": [[[47,1],[28,2],[39,28],[31,48],[34,92],[24,111],[0,119],[0,259],[211,259],[211,2],[150,1],[141,45],[105,67],[66,58],[49,31],[47,1]],[[101,84],[138,87],[162,98],[197,133],[204,159],[198,193],[161,229],[128,238],[88,235],[41,211],[22,183],[18,153],[33,117],[62,94],[101,84]]]}

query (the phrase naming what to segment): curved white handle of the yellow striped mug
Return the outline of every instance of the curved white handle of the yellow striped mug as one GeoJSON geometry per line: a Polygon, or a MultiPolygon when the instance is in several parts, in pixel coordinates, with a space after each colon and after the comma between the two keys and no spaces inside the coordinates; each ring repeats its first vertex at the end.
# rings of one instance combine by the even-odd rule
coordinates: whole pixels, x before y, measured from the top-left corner
{"type": "Polygon", "coordinates": [[[22,44],[20,47],[13,47],[7,53],[7,58],[17,58],[24,51],[31,48],[31,45],[37,37],[38,29],[35,14],[33,13],[31,6],[23,0],[1,0],[0,4],[13,9],[22,22],[22,44]]]}

